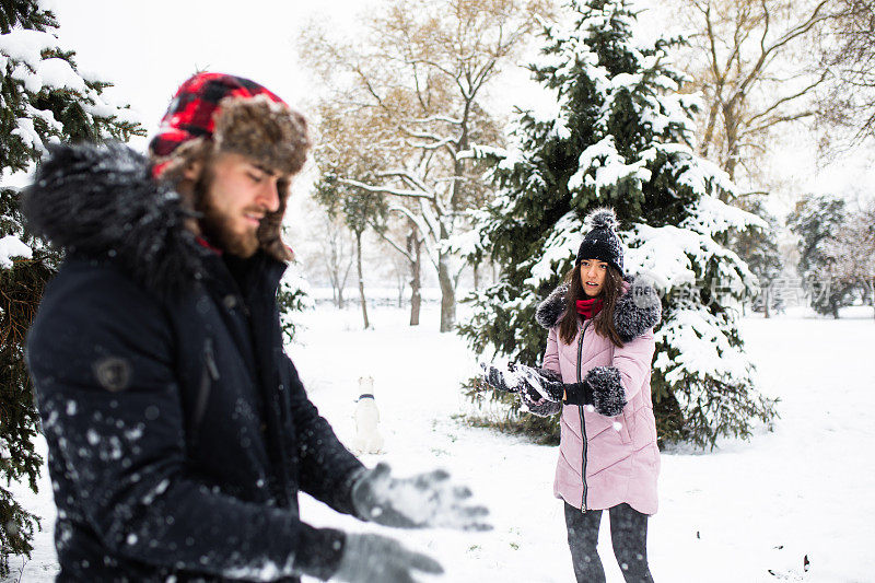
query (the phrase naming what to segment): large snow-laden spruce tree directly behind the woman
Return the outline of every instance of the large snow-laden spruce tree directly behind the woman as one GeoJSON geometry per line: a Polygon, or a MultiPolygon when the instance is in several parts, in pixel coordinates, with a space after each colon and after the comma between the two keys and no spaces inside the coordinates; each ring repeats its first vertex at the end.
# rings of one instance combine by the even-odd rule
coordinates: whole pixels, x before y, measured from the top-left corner
{"type": "Polygon", "coordinates": [[[725,241],[731,229],[765,224],[721,202],[734,185],[693,153],[695,103],[667,65],[675,43],[638,44],[623,0],[568,8],[573,19],[545,25],[530,66],[555,110],[523,113],[513,148],[476,150],[494,161],[500,196],[478,213],[471,255],[490,256],[502,277],[468,299],[475,314],[460,333],[479,352],[540,362],[547,334],[535,308],[573,267],[584,217],[614,207],[627,270],[663,294],[653,374],[661,439],[713,447],[721,435],[748,436],[755,419],[775,412],[755,388],[737,329],[756,278],[725,241]]]}

